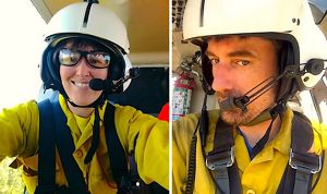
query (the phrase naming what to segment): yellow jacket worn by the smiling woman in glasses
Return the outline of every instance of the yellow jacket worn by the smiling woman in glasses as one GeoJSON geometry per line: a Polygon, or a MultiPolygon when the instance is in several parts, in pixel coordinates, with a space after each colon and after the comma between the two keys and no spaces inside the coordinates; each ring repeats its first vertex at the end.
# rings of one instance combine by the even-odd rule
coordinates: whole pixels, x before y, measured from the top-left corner
{"type": "MultiPolygon", "coordinates": [[[[73,114],[62,96],[60,106],[68,118],[68,125],[75,144],[73,157],[84,177],[88,170],[88,190],[92,193],[117,193],[117,185],[112,178],[104,128],[106,105],[99,109],[100,143],[89,167],[84,165],[84,158],[92,143],[94,113],[89,118],[73,114]]],[[[116,106],[114,123],[121,144],[126,153],[135,153],[135,160],[141,178],[146,182],[158,182],[168,189],[169,184],[169,131],[168,122],[142,113],[132,107],[116,106]],[[138,137],[134,147],[134,138],[138,137]]],[[[3,109],[0,113],[0,159],[5,156],[19,157],[25,166],[23,181],[28,193],[34,193],[37,175],[26,169],[37,171],[37,148],[39,135],[38,108],[35,101],[19,105],[11,109],[3,109]]],[[[64,172],[58,153],[56,154],[56,182],[66,185],[64,172]]]]}

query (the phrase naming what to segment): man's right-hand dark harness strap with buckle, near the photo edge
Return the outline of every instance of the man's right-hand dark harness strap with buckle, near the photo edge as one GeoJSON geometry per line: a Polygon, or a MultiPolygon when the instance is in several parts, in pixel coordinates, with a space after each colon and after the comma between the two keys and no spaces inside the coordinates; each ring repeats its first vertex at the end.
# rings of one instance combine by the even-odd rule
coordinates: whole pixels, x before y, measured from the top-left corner
{"type": "Polygon", "coordinates": [[[308,194],[313,174],[322,169],[322,156],[307,153],[314,143],[310,120],[294,111],[289,165],[278,187],[278,194],[308,194]]]}

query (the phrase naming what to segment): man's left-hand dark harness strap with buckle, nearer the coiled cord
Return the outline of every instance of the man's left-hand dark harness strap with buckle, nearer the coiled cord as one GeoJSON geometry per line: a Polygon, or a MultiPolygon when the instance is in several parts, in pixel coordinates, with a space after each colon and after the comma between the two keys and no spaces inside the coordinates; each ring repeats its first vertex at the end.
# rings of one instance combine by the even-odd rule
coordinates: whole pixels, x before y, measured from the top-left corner
{"type": "Polygon", "coordinates": [[[234,158],[233,130],[221,119],[216,124],[214,149],[206,156],[206,166],[216,183],[216,193],[242,193],[238,165],[234,158]]]}

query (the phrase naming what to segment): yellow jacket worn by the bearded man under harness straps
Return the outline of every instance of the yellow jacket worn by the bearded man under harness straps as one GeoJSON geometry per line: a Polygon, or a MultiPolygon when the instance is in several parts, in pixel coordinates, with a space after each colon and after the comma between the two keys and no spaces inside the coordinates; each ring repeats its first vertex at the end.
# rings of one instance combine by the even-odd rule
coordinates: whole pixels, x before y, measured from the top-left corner
{"type": "MultiPolygon", "coordinates": [[[[189,157],[190,144],[194,133],[198,114],[186,116],[172,123],[172,193],[184,193],[189,157]]],[[[214,146],[214,135],[219,111],[209,111],[209,132],[207,136],[205,154],[210,151],[214,146]]],[[[291,121],[293,112],[287,110],[280,132],[270,141],[265,148],[250,159],[246,145],[243,137],[235,133],[235,159],[238,162],[241,184],[243,193],[256,194],[275,194],[279,186],[282,173],[289,160],[289,149],[291,142],[291,121]]],[[[325,129],[326,131],[326,129],[325,129]]],[[[320,131],[323,132],[323,131],[320,131]]],[[[326,133],[326,132],[325,132],[326,133]]],[[[320,154],[322,143],[315,136],[315,150],[320,154]]],[[[325,194],[327,192],[327,159],[325,157],[325,167],[322,171],[322,177],[316,185],[313,194],[325,194]]],[[[316,174],[313,182],[315,182],[316,174]]],[[[195,194],[215,194],[215,183],[211,180],[210,173],[205,165],[203,150],[197,133],[196,144],[196,171],[194,182],[195,194]]]]}

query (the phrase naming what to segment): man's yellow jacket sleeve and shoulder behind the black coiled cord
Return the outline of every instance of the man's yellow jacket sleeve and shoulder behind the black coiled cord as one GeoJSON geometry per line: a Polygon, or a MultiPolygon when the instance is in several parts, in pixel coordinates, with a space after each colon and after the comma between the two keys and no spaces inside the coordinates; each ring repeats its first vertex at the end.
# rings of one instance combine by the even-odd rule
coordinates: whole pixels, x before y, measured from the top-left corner
{"type": "MultiPolygon", "coordinates": [[[[172,193],[183,194],[185,193],[187,173],[189,173],[189,159],[191,153],[191,143],[193,134],[195,132],[198,119],[198,113],[187,114],[174,122],[172,122],[172,193]]],[[[216,130],[216,123],[219,118],[218,110],[208,111],[209,117],[209,130],[206,136],[206,146],[202,148],[199,138],[199,129],[197,129],[196,136],[196,166],[195,166],[195,182],[194,193],[211,193],[215,190],[214,184],[207,184],[207,181],[211,181],[211,178],[205,166],[205,158],[203,157],[204,150],[213,149],[213,140],[216,130]],[[197,180],[197,181],[196,181],[197,180]],[[206,184],[203,184],[206,182],[206,184]]]]}

